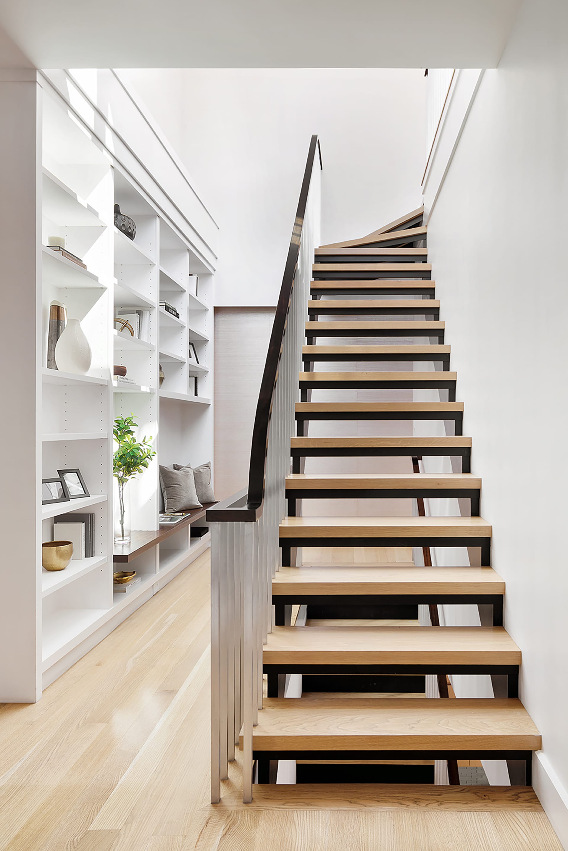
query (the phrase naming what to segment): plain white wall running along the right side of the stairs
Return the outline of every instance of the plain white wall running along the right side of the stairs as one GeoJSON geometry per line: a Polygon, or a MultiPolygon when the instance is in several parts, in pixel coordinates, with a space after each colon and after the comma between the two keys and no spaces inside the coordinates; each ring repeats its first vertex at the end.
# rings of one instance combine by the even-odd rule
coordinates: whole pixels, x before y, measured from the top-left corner
{"type": "Polygon", "coordinates": [[[565,847],[567,25],[559,0],[523,4],[428,226],[505,625],[523,654],[521,698],[542,733],[536,790],[565,847]]]}

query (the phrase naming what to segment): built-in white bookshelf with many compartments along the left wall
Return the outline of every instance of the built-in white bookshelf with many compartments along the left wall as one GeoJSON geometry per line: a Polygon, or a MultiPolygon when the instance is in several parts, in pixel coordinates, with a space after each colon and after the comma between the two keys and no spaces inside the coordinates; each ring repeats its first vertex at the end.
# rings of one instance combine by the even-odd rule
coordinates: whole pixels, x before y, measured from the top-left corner
{"type": "MultiPolygon", "coordinates": [[[[36,556],[18,565],[22,592],[10,595],[10,610],[0,619],[0,630],[11,623],[14,637],[17,625],[25,622],[22,638],[29,644],[32,635],[36,651],[34,656],[24,648],[18,665],[0,668],[0,702],[37,700],[42,684],[53,682],[209,545],[209,536],[192,537],[189,525],[169,534],[129,562],[128,569],[136,570],[141,583],[130,593],[114,593],[113,571],[126,569],[113,561],[114,418],[135,414],[140,437],[152,437],[157,451],[148,469],[129,484],[135,531],[158,531],[159,464],[213,460],[209,307],[215,254],[204,250],[191,224],[192,211],[183,209],[189,178],[155,133],[151,119],[145,117],[143,123],[148,130],[141,140],[145,163],[136,154],[135,140],[124,146],[110,116],[108,121],[104,117],[105,110],[112,112],[112,97],[96,105],[96,118],[89,111],[95,96],[89,100],[90,77],[82,73],[73,78],[63,71],[46,72],[37,89],[42,141],[37,151],[37,278],[30,285],[37,288],[39,346],[35,385],[32,381],[22,386],[18,400],[29,392],[40,405],[37,532],[31,533],[36,556]],[[165,168],[174,161],[181,186],[165,168]],[[173,181],[166,189],[160,174],[152,173],[154,165],[159,165],[164,180],[173,181]],[[169,201],[176,192],[177,199],[169,201]],[[114,226],[115,203],[135,220],[134,240],[114,226]],[[54,237],[65,240],[66,251],[86,268],[49,248],[54,237]],[[80,321],[89,340],[92,363],[86,375],[48,368],[53,301],[66,306],[68,318],[80,321]],[[115,317],[137,311],[141,322],[135,334],[121,332],[115,317]],[[123,384],[114,376],[115,365],[126,367],[132,383],[123,384]],[[42,505],[41,479],[77,469],[89,496],[42,505]],[[73,558],[65,570],[50,573],[41,564],[41,543],[54,540],[57,518],[65,521],[77,513],[94,515],[93,555],[73,558]],[[35,607],[30,603],[34,597],[35,607]]],[[[141,104],[118,85],[118,74],[95,73],[106,75],[100,90],[114,92],[121,108],[130,109],[133,120],[140,121],[141,104]]],[[[204,210],[198,212],[202,223],[195,223],[202,229],[209,221],[204,210]]],[[[34,333],[32,328],[30,339],[34,333]]]]}

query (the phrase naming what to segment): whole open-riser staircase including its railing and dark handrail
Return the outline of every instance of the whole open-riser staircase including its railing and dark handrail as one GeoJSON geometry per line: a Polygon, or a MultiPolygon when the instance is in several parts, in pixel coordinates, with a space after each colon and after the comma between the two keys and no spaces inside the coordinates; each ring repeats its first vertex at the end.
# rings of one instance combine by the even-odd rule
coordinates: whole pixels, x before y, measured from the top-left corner
{"type": "Polygon", "coordinates": [[[505,584],[491,568],[491,523],[479,514],[481,478],[471,471],[471,438],[462,434],[422,208],[367,237],[317,248],[319,168],[313,137],[261,386],[249,486],[207,515],[212,800],[220,800],[239,746],[245,802],[254,782],[276,780],[282,761],[295,762],[296,782],[335,782],[339,791],[341,784],[374,782],[379,797],[384,783],[433,783],[435,765],[459,784],[462,760],[522,761],[530,785],[541,737],[519,700],[521,653],[503,627],[505,584]],[[341,371],[326,371],[326,363],[341,371]],[[353,368],[360,363],[367,371],[353,368]],[[432,363],[433,370],[422,369],[432,363]],[[390,392],[423,389],[438,391],[439,401],[396,402],[390,392]],[[336,401],[312,401],[319,390],[334,391],[336,401]],[[360,390],[372,391],[364,393],[372,401],[351,401],[360,390]],[[425,420],[443,420],[453,433],[397,434],[401,423],[425,420]],[[342,422],[342,436],[310,437],[316,421],[318,435],[342,422]],[[365,421],[390,421],[391,433],[360,437],[365,421]],[[461,459],[461,471],[424,472],[421,460],[429,456],[461,459]],[[306,472],[307,460],[323,458],[339,459],[343,470],[353,459],[354,471],[306,472]],[[402,459],[407,471],[360,472],[359,461],[373,458],[402,459]],[[460,499],[470,511],[426,516],[428,499],[460,499]],[[413,516],[338,510],[313,517],[310,500],[413,500],[415,508],[413,516]],[[410,547],[422,553],[423,566],[410,558],[309,558],[334,548],[410,547]],[[472,566],[433,566],[434,547],[467,547],[472,566]],[[492,625],[439,625],[440,605],[470,603],[491,605],[492,625]],[[429,625],[416,625],[419,606],[427,607],[429,625]],[[457,699],[452,674],[504,675],[507,696],[457,699]],[[426,696],[427,677],[438,697],[426,696]],[[288,696],[293,681],[301,696],[288,696]]]}

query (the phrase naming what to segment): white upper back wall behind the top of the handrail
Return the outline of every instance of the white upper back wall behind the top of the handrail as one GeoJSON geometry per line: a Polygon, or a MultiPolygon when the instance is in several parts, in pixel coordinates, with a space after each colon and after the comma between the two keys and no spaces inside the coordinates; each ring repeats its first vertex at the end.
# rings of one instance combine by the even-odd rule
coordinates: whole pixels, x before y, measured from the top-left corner
{"type": "Polygon", "coordinates": [[[425,86],[419,69],[129,75],[211,199],[221,227],[217,305],[276,304],[313,133],[324,162],[324,243],[368,233],[421,203],[425,86]]]}

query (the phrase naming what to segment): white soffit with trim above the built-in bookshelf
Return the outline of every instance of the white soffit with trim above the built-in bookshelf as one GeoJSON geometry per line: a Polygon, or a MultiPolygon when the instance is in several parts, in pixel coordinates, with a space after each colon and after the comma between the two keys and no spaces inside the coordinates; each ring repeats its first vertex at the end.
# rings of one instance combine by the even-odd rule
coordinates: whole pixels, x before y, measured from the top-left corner
{"type": "Polygon", "coordinates": [[[43,75],[178,228],[204,265],[215,269],[219,228],[186,169],[119,74],[93,69],[43,71],[43,75]]]}

